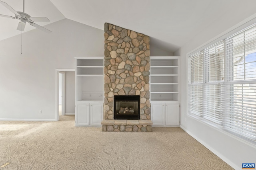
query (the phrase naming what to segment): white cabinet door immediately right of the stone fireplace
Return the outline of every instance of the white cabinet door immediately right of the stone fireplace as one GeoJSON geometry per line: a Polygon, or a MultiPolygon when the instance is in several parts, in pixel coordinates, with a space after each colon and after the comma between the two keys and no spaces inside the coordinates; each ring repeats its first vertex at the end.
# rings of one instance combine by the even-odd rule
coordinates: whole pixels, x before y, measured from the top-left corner
{"type": "Polygon", "coordinates": [[[164,125],[164,104],[151,104],[153,125],[164,125]]]}

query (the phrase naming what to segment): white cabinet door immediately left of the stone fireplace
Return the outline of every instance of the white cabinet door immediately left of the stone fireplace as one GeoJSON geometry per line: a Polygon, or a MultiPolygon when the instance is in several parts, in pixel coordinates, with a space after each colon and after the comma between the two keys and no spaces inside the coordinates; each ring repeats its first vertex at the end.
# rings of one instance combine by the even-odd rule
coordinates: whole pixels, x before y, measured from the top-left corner
{"type": "Polygon", "coordinates": [[[90,125],[101,125],[103,117],[103,104],[91,104],[90,105],[90,125]]]}

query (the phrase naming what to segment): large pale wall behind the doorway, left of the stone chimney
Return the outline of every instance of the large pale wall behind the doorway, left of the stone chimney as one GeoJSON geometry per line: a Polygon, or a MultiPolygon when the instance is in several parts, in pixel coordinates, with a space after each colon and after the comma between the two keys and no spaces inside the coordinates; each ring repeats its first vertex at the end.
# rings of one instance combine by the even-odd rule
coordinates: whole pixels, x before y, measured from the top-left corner
{"type": "Polygon", "coordinates": [[[0,120],[55,120],[55,70],[104,55],[103,30],[68,19],[45,27],[52,33],[23,33],[23,55],[20,35],[0,41],[0,120]]]}

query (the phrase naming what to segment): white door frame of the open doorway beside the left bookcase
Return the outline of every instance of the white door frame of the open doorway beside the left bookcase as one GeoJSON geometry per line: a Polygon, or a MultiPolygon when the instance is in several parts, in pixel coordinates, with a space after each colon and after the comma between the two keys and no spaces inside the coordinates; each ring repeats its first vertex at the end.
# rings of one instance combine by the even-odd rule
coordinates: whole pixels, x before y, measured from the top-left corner
{"type": "MultiPolygon", "coordinates": [[[[59,121],[59,78],[60,78],[59,73],[60,72],[67,72],[67,71],[74,71],[75,72],[76,70],[75,69],[56,69],[55,70],[55,121],[59,121]]],[[[63,82],[63,78],[62,78],[62,82],[63,82]]],[[[65,84],[65,82],[64,82],[64,84],[65,84]]],[[[62,88],[62,94],[63,94],[63,90],[64,90],[64,88],[62,88]]],[[[63,103],[63,100],[62,100],[62,103],[63,103]]],[[[62,106],[62,108],[63,107],[64,106],[62,106]]]]}

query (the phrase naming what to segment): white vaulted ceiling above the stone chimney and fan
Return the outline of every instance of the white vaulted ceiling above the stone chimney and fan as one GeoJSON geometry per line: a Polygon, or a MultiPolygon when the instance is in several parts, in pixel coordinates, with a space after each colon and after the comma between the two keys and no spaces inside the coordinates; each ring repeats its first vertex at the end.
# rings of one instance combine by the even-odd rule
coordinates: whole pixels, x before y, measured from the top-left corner
{"type": "MultiPolygon", "coordinates": [[[[14,10],[22,11],[23,0],[2,1],[14,10]]],[[[151,43],[157,47],[174,52],[202,30],[210,27],[213,22],[218,23],[220,18],[248,12],[247,6],[256,6],[256,1],[25,0],[25,13],[32,17],[46,16],[50,23],[68,18],[102,30],[105,22],[112,23],[146,34],[150,36],[151,43]]],[[[0,14],[14,16],[2,4],[0,4],[0,14]]],[[[20,31],[16,30],[18,22],[19,20],[0,17],[0,40],[20,34],[20,31]]],[[[36,23],[41,26],[49,24],[49,22],[36,23]]],[[[31,29],[35,28],[27,24],[24,31],[31,29]]]]}

